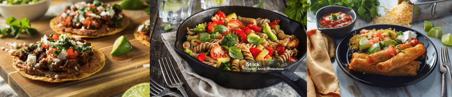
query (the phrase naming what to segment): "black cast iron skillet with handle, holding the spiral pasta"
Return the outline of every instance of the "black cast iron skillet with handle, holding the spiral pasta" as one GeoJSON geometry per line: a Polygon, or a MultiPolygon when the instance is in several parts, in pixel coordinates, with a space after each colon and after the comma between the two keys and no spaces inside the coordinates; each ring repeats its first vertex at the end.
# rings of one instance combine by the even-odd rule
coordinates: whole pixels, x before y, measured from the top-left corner
{"type": "Polygon", "coordinates": [[[301,61],[306,57],[306,30],[301,24],[295,20],[289,19],[279,13],[269,11],[266,9],[259,9],[246,6],[225,6],[217,7],[212,9],[207,9],[198,12],[189,18],[187,18],[179,26],[176,34],[176,41],[174,44],[174,50],[179,54],[188,65],[195,71],[198,75],[212,79],[218,85],[226,88],[236,88],[236,89],[256,89],[265,88],[278,84],[281,81],[286,82],[292,88],[294,88],[301,96],[306,95],[306,81],[295,75],[293,72],[301,64],[301,61]],[[299,39],[297,54],[298,61],[283,67],[284,70],[276,71],[261,71],[261,72],[239,72],[239,71],[228,71],[224,69],[219,69],[213,66],[204,64],[192,56],[184,53],[182,44],[185,39],[185,35],[188,28],[194,28],[199,23],[212,22],[212,16],[218,11],[224,12],[226,15],[230,13],[236,13],[237,16],[245,18],[268,18],[270,20],[279,19],[280,29],[284,31],[287,35],[295,35],[299,39]]]}

